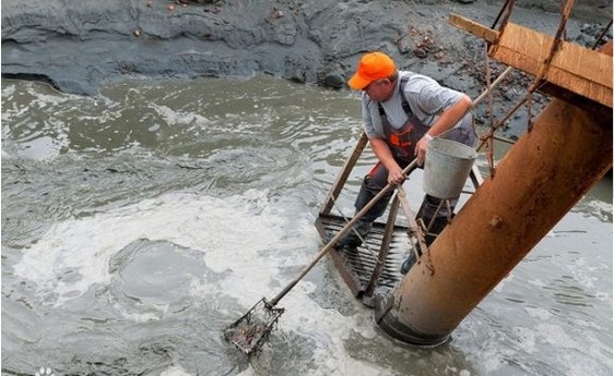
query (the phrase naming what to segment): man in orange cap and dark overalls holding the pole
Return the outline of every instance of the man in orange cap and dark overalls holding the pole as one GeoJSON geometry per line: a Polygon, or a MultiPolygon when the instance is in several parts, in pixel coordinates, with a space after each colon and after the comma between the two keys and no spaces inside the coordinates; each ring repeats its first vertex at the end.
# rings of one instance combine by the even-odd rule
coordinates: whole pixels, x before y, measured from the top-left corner
{"type": "MultiPolygon", "coordinates": [[[[418,166],[423,166],[426,147],[434,137],[469,146],[475,144],[473,117],[469,112],[471,98],[426,75],[399,71],[394,61],[383,52],[365,53],[347,85],[362,90],[363,126],[378,158],[377,165],[363,180],[354,205],[356,213],[388,183],[402,184],[406,178],[403,169],[414,158],[418,166]]],[[[393,190],[390,190],[382,196],[335,244],[335,248],[345,253],[357,252],[373,222],[386,211],[392,194],[393,190]]],[[[442,205],[437,211],[440,202],[440,198],[426,194],[418,210],[425,226],[432,225],[425,236],[427,245],[446,227],[458,199],[451,199],[449,208],[442,205]]],[[[413,252],[410,252],[401,272],[405,274],[415,262],[413,252]]]]}

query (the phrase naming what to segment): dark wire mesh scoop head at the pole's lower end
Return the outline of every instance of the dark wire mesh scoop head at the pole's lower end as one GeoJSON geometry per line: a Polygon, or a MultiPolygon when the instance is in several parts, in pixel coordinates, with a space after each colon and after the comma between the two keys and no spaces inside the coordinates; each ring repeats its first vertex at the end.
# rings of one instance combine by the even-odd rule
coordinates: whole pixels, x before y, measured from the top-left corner
{"type": "Polygon", "coordinates": [[[262,348],[284,311],[285,308],[276,308],[262,298],[245,315],[224,329],[224,339],[246,355],[250,355],[262,348]]]}

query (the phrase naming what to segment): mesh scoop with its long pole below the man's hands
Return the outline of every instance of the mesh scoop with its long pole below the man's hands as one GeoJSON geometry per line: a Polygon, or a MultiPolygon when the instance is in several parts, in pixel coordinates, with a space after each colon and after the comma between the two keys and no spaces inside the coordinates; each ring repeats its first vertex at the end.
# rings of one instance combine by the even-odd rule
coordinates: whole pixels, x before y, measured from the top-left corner
{"type": "MultiPolygon", "coordinates": [[[[403,175],[417,166],[414,159],[408,167],[403,169],[403,175]]],[[[224,329],[224,339],[236,345],[245,354],[249,355],[253,351],[260,349],[273,325],[284,313],[284,308],[278,308],[275,305],[288,293],[305,275],[322,258],[334,244],[345,235],[352,227],[391,189],[394,184],[388,184],[375,197],[373,197],[361,211],[358,211],[339,232],[324,245],[324,247],[314,257],[309,265],[305,266],[300,274],[292,280],[275,298],[271,301],[262,298],[256,303],[245,315],[224,329]]]]}

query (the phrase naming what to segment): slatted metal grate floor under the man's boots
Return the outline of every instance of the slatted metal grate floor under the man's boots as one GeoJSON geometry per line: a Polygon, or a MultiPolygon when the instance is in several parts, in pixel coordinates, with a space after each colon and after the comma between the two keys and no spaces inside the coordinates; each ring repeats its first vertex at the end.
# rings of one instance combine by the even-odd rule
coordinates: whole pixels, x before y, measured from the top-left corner
{"type": "MultiPolygon", "coordinates": [[[[322,215],[316,220],[322,240],[328,243],[344,226],[343,217],[322,215]]],[[[385,223],[375,222],[373,230],[365,239],[365,243],[357,248],[357,253],[347,254],[331,250],[330,255],[345,283],[356,298],[362,298],[371,279],[383,239],[385,223]]],[[[394,226],[383,268],[377,280],[378,290],[389,290],[401,280],[399,271],[401,264],[411,252],[408,228],[394,226]]]]}

